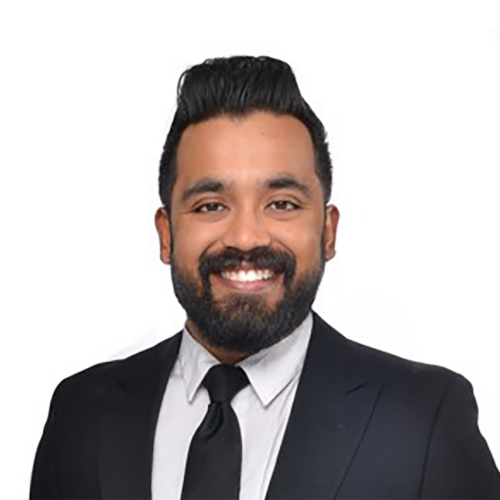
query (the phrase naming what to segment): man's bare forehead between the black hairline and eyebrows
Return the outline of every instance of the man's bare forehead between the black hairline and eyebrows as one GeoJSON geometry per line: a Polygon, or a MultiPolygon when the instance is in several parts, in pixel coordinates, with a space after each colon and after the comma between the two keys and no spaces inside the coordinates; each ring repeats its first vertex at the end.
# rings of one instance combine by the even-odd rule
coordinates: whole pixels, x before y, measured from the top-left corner
{"type": "Polygon", "coordinates": [[[276,173],[313,185],[319,182],[314,163],[309,131],[297,118],[266,112],[220,116],[191,125],[182,134],[176,186],[206,176],[248,186],[276,173]]]}

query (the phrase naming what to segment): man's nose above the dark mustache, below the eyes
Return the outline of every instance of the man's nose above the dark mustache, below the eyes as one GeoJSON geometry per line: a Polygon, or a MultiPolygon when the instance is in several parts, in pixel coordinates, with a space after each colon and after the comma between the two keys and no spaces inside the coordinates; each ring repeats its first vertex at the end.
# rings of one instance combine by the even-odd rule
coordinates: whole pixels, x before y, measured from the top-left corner
{"type": "Polygon", "coordinates": [[[271,236],[262,216],[254,209],[242,209],[235,212],[224,234],[223,244],[243,251],[258,246],[268,246],[271,236]]]}

